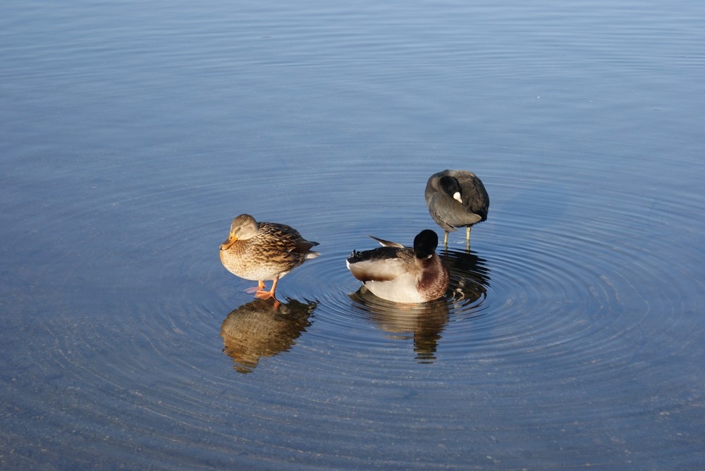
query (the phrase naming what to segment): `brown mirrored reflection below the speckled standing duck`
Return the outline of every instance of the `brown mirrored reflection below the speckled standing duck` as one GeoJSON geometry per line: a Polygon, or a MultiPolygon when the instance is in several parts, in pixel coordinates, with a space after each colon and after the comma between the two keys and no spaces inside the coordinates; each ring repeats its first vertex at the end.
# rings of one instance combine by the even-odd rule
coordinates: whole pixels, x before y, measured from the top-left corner
{"type": "Polygon", "coordinates": [[[233,368],[250,373],[259,359],[288,351],[311,325],[317,301],[257,299],[233,310],[221,325],[223,351],[233,368]]]}

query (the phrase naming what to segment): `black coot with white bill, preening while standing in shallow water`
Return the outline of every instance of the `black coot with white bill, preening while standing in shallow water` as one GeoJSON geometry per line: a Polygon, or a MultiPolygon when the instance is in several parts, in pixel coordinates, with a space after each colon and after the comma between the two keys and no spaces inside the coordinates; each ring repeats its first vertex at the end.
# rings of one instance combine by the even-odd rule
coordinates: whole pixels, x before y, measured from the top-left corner
{"type": "Polygon", "coordinates": [[[489,196],[477,175],[467,170],[434,173],[425,196],[431,218],[446,232],[443,245],[448,245],[448,232],[465,226],[465,244],[470,247],[472,225],[487,220],[489,211],[489,196]]]}

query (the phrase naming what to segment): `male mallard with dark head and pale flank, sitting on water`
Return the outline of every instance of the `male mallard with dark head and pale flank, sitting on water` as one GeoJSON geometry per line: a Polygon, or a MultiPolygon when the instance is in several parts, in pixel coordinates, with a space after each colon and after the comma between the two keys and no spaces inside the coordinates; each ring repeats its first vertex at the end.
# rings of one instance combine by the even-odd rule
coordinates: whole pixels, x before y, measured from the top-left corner
{"type": "Polygon", "coordinates": [[[348,270],[372,294],[398,303],[424,303],[443,296],[448,288],[448,268],[436,253],[439,245],[436,232],[428,229],[419,232],[413,249],[372,239],[382,246],[353,251],[346,260],[348,270]]]}

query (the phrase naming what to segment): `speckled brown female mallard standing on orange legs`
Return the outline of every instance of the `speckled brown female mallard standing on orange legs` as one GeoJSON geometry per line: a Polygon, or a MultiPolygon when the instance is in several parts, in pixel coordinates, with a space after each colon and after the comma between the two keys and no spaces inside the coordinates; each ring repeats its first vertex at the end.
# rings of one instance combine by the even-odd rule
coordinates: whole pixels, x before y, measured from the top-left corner
{"type": "Polygon", "coordinates": [[[319,256],[311,251],[317,245],[293,227],[257,222],[251,215],[241,214],[230,226],[230,237],[221,244],[221,262],[233,275],[259,281],[255,296],[269,299],[274,298],[279,278],[319,256]],[[269,291],[264,291],[264,280],[274,281],[269,291]]]}

